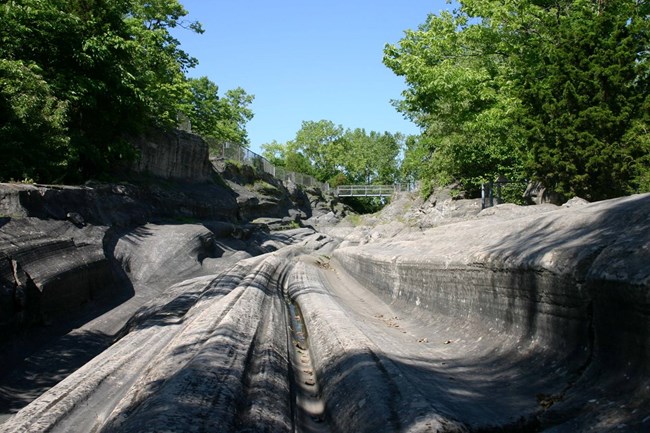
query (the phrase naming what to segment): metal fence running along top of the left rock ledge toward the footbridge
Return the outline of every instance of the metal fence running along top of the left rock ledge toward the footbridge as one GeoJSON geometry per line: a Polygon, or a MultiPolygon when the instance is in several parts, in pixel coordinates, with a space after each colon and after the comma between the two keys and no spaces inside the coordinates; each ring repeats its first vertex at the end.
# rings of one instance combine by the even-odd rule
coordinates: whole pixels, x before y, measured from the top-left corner
{"type": "Polygon", "coordinates": [[[242,147],[234,143],[223,143],[218,144],[216,142],[210,142],[210,148],[220,149],[221,155],[215,155],[221,157],[225,160],[231,160],[239,162],[241,164],[249,165],[256,170],[264,171],[269,173],[271,176],[280,179],[283,182],[291,181],[297,185],[303,186],[313,186],[321,188],[323,191],[328,192],[330,187],[327,183],[319,182],[313,176],[309,176],[303,173],[296,173],[294,171],[289,171],[283,167],[277,167],[271,162],[264,158],[262,155],[258,155],[250,149],[242,147]]]}

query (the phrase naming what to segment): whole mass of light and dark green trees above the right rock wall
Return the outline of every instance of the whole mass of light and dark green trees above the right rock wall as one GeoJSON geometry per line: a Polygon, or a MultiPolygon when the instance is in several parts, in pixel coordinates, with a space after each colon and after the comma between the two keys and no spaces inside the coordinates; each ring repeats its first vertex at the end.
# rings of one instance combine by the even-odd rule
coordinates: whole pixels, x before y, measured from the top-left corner
{"type": "Polygon", "coordinates": [[[408,86],[396,106],[424,131],[407,175],[469,191],[537,179],[592,200],[648,189],[647,2],[460,5],[384,51],[408,86]]]}

